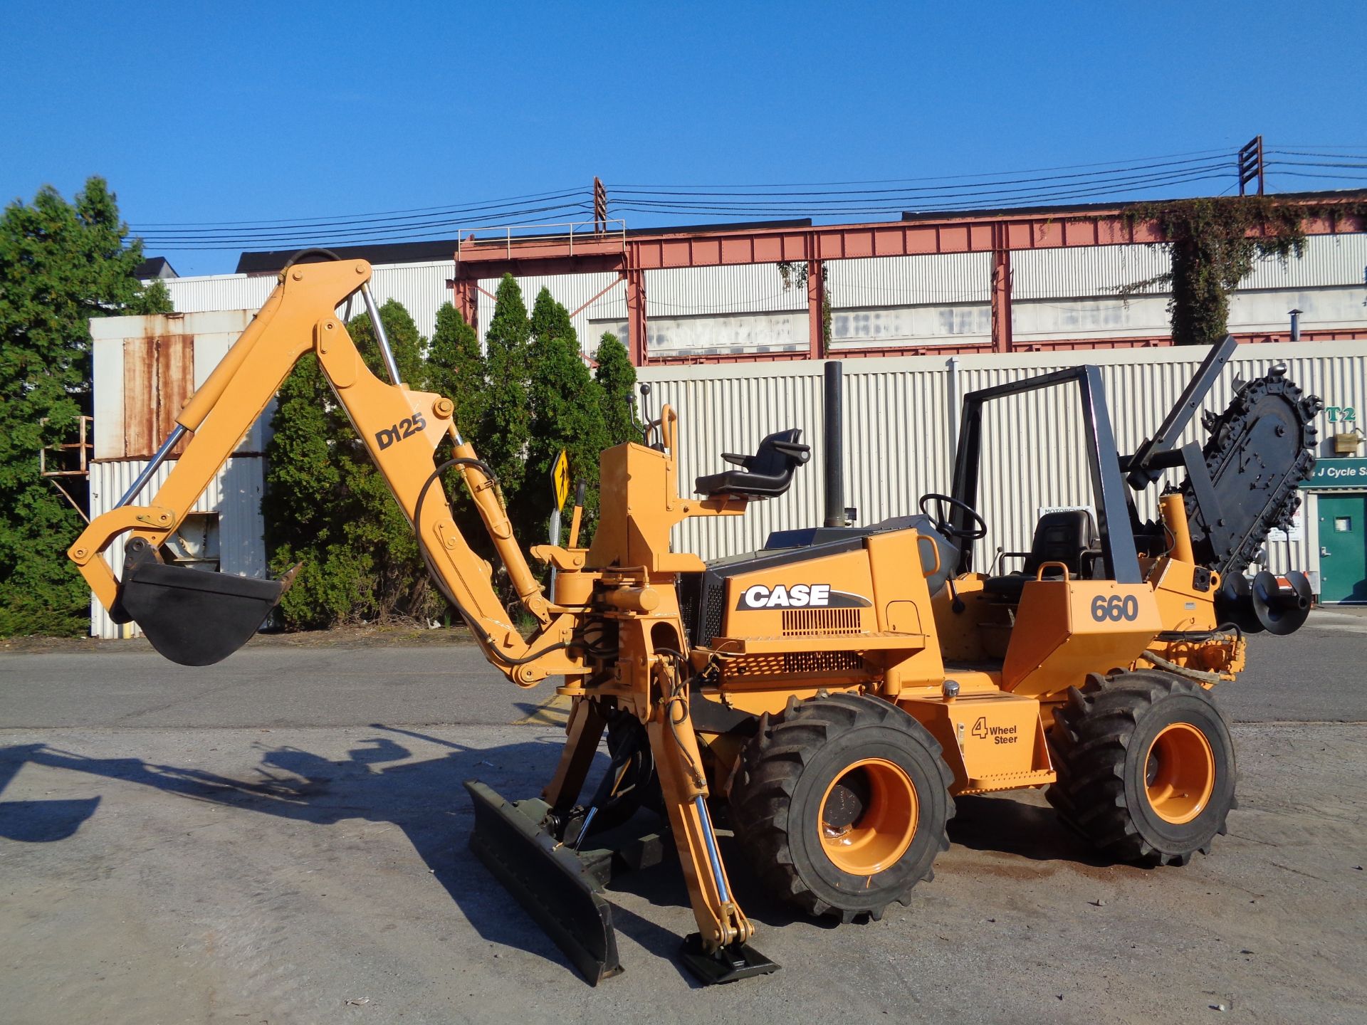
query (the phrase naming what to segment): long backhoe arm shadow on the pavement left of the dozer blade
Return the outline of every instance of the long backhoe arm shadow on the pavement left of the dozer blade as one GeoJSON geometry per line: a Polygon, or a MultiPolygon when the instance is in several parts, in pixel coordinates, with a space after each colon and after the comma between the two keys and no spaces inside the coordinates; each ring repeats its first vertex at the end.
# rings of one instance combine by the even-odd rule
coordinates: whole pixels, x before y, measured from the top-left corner
{"type": "MultiPolygon", "coordinates": [[[[191,801],[314,825],[332,825],[346,819],[390,823],[403,831],[483,939],[558,962],[578,977],[559,947],[470,851],[474,812],[462,786],[466,779],[478,778],[511,798],[533,797],[534,791],[526,780],[551,776],[560,752],[559,741],[547,738],[472,749],[396,727],[372,724],[372,728],[384,733],[361,741],[340,760],[293,746],[258,745],[261,758],[252,779],[135,757],[96,758],[45,743],[14,745],[0,748],[0,798],[14,775],[25,764],[34,764],[138,783],[191,801]],[[394,735],[436,743],[448,752],[422,761],[405,761],[411,758],[411,750],[394,735]]],[[[603,761],[606,764],[606,756],[603,761]]],[[[77,801],[0,800],[0,836],[29,843],[64,840],[94,815],[100,804],[101,797],[77,801]]],[[[679,886],[673,901],[662,902],[686,903],[682,894],[679,886]]],[[[615,916],[623,933],[647,950],[674,959],[678,936],[621,907],[615,909],[615,916]]]]}

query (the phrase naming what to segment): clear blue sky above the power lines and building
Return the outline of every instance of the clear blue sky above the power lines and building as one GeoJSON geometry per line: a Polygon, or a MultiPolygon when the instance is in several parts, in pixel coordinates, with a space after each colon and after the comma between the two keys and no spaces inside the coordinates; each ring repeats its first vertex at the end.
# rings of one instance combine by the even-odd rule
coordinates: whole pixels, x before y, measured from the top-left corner
{"type": "MultiPolygon", "coordinates": [[[[979,175],[1258,133],[1367,153],[1362,0],[198,7],[10,0],[0,198],[100,174],[137,228],[593,175],[610,190],[979,175]]],[[[1345,175],[1364,180],[1271,183],[1367,187],[1345,175]]],[[[167,256],[180,273],[236,261],[167,256]]]]}

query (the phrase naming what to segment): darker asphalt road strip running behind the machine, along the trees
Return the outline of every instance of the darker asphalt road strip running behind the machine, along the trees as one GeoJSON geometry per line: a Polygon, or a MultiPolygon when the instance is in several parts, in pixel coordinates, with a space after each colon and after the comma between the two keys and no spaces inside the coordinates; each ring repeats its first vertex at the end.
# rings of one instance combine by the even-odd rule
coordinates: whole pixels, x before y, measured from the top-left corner
{"type": "MultiPolygon", "coordinates": [[[[1316,611],[1289,637],[1249,638],[1248,668],[1215,696],[1233,722],[1367,722],[1367,616],[1316,611]]],[[[282,645],[262,637],[217,666],[175,666],[145,641],[0,655],[0,726],[507,726],[554,702],[519,690],[473,644],[282,645]]],[[[543,716],[544,719],[545,716],[543,716]]]]}

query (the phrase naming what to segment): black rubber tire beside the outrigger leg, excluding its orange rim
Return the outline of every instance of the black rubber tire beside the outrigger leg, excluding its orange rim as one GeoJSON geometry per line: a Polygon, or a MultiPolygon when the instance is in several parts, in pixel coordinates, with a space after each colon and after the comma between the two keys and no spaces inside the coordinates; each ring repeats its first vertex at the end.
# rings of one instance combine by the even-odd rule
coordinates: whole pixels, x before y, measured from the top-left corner
{"type": "Polygon", "coordinates": [[[760,719],[731,783],[731,823],[755,873],[778,899],[841,921],[878,920],[889,903],[908,903],[912,887],[934,877],[931,865],[949,847],[951,782],[939,743],[910,715],[879,698],[831,694],[760,719]],[[835,865],[820,836],[827,789],[863,758],[901,768],[919,805],[906,853],[872,876],[835,865]]]}

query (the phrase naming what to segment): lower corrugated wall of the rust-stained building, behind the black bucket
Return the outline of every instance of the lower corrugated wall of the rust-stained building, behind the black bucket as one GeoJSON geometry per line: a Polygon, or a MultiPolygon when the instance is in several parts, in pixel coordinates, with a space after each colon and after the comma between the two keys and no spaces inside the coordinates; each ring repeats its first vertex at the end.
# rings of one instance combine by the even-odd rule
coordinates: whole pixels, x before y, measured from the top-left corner
{"type": "MultiPolygon", "coordinates": [[[[142,469],[145,459],[119,459],[90,466],[90,517],[113,508],[113,503],[128,489],[142,469]]],[[[175,463],[161,465],[139,496],[150,503],[157,488],[165,484],[175,463]]],[[[235,455],[215,474],[194,512],[219,514],[219,569],[238,577],[265,577],[265,521],[261,518],[261,492],[265,487],[265,459],[235,455]]],[[[123,540],[115,538],[105,552],[115,575],[123,573],[123,540]]],[[[139,631],[134,623],[123,627],[139,631]]],[[[119,637],[119,625],[109,619],[104,605],[90,599],[90,633],[94,637],[119,637]]]]}

